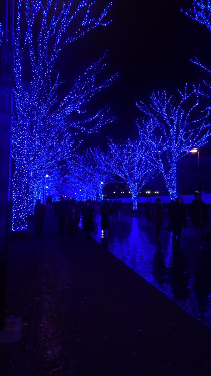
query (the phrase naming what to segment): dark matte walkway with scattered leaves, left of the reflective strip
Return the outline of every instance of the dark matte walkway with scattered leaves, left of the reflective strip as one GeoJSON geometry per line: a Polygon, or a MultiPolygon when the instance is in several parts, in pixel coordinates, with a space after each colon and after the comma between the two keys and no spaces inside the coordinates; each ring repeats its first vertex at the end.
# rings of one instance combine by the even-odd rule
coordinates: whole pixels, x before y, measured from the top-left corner
{"type": "Polygon", "coordinates": [[[209,329],[81,229],[71,243],[53,216],[40,238],[29,223],[7,275],[20,338],[0,333],[2,376],[211,376],[209,329]]]}

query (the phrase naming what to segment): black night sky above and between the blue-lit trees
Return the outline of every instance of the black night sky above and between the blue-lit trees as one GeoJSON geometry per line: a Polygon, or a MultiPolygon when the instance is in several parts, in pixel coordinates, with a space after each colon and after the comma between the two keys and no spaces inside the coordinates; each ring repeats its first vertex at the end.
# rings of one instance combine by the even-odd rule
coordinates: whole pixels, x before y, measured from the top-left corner
{"type": "MultiPolygon", "coordinates": [[[[186,83],[204,78],[190,59],[197,56],[208,61],[210,35],[204,26],[181,13],[181,8],[190,5],[187,0],[116,0],[109,13],[112,23],[71,45],[66,55],[68,69],[80,71],[108,50],[107,71],[119,72],[107,94],[99,96],[99,102],[107,102],[117,120],[92,137],[94,144],[103,143],[108,133],[115,139],[120,134],[122,138],[136,136],[136,100],[146,102],[154,90],[173,94],[186,83]]],[[[88,137],[87,143],[90,141],[88,137]]]]}

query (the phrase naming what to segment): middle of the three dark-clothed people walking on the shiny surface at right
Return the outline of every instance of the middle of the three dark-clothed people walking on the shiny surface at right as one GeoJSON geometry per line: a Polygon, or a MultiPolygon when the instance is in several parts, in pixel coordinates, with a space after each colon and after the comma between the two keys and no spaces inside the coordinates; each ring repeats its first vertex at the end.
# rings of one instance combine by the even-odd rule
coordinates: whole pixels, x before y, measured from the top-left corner
{"type": "Polygon", "coordinates": [[[170,218],[170,227],[172,229],[172,249],[180,249],[182,226],[186,229],[186,212],[183,205],[183,198],[177,197],[176,201],[171,201],[168,215],[170,218]]]}

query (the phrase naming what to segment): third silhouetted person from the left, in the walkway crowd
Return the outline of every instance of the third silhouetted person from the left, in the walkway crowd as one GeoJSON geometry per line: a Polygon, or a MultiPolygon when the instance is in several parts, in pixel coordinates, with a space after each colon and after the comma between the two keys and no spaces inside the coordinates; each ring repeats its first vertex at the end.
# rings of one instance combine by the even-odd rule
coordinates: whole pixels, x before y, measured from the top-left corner
{"type": "Polygon", "coordinates": [[[78,223],[80,222],[80,210],[78,209],[77,202],[74,198],[69,200],[68,206],[65,211],[65,223],[67,234],[71,236],[71,240],[74,241],[75,234],[78,230],[78,223]]]}

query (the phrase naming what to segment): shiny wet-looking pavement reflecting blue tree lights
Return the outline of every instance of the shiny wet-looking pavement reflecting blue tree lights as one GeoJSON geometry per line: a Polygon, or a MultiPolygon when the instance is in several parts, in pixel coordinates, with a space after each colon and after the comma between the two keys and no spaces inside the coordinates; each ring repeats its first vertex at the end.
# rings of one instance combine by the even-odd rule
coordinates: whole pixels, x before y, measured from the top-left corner
{"type": "MultiPolygon", "coordinates": [[[[129,213],[128,213],[129,214],[129,213]]],[[[140,216],[139,214],[137,216],[140,216]]],[[[116,219],[116,218],[115,218],[116,219]]],[[[92,237],[189,314],[211,327],[211,245],[199,252],[193,227],[182,230],[181,251],[172,251],[172,235],[162,230],[155,242],[145,218],[122,215],[105,236],[96,218],[92,237]]]]}

